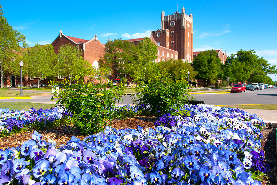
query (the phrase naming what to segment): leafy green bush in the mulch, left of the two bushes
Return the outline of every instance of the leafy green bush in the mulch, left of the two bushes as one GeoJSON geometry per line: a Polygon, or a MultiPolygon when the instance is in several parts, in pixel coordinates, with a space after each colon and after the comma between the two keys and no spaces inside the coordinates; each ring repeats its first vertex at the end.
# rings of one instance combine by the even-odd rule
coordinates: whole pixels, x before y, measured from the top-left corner
{"type": "MultiPolygon", "coordinates": [[[[79,76],[73,79],[75,83],[71,85],[68,80],[64,80],[63,90],[55,93],[58,97],[56,104],[65,106],[73,114],[73,125],[83,134],[101,131],[105,128],[107,120],[120,116],[114,109],[115,101],[122,100],[124,83],[112,86],[103,75],[99,76],[96,78],[99,83],[95,85],[85,84],[79,76]]],[[[50,86],[55,88],[55,84],[50,86]]]]}

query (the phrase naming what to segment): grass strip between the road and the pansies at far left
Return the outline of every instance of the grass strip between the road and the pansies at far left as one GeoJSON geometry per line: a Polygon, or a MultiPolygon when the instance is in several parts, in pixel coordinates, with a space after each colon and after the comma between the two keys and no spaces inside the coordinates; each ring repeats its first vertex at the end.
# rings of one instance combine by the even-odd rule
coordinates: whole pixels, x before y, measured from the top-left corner
{"type": "Polygon", "coordinates": [[[34,107],[35,109],[50,109],[54,107],[54,104],[45,104],[45,103],[29,103],[29,102],[0,102],[0,108],[8,108],[10,110],[29,110],[30,108],[34,107]]]}

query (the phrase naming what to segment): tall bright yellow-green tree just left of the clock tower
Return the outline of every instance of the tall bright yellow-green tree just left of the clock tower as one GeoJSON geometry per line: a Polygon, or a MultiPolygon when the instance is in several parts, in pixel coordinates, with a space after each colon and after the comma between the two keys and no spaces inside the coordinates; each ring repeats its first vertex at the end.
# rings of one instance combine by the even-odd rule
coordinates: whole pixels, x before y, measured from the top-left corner
{"type": "Polygon", "coordinates": [[[146,79],[155,78],[158,72],[155,63],[157,51],[158,47],[148,37],[135,47],[134,61],[128,64],[128,72],[135,81],[144,84],[146,79]]]}

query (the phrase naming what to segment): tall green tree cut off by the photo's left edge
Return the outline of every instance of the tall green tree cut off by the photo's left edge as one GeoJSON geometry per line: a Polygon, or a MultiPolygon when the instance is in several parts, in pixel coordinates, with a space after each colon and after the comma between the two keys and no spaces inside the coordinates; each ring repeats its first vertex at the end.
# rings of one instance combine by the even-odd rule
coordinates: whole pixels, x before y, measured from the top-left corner
{"type": "MultiPolygon", "coordinates": [[[[20,43],[26,47],[25,36],[13,29],[3,16],[0,5],[0,74],[1,88],[4,85],[4,73],[14,72],[14,58],[20,52],[20,43]]],[[[18,64],[17,64],[18,66],[18,64]]]]}

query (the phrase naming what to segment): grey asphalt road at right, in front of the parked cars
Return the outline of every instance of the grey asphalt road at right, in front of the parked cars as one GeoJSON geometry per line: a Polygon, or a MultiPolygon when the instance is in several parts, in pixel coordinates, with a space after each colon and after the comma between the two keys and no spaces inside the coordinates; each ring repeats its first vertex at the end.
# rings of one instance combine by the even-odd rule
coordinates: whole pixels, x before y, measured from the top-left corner
{"type": "Polygon", "coordinates": [[[193,94],[193,96],[196,100],[211,105],[270,104],[277,103],[277,88],[228,94],[193,94]]]}

